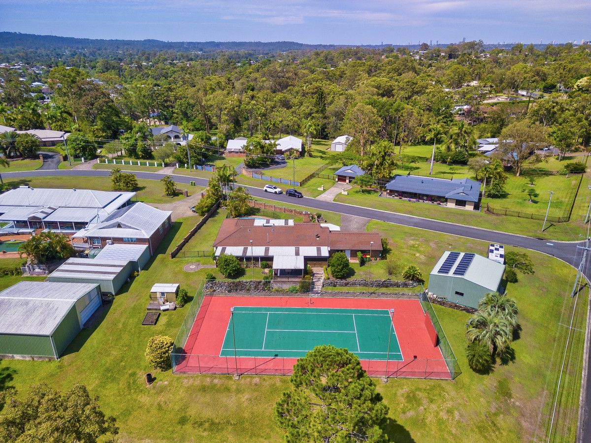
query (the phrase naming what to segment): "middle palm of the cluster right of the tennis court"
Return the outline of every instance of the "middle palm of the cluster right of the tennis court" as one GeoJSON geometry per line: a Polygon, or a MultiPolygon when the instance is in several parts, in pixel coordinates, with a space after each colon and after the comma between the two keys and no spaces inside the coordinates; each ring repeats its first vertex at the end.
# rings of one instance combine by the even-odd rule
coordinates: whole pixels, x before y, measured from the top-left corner
{"type": "Polygon", "coordinates": [[[466,323],[466,339],[485,344],[491,354],[504,354],[512,338],[513,328],[502,315],[476,311],[466,323]]]}

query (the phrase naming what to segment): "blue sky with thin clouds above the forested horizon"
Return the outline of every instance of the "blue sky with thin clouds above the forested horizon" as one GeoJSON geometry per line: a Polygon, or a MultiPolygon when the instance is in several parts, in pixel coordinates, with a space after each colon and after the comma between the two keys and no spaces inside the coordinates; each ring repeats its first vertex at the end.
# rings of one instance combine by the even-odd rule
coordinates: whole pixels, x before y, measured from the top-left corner
{"type": "Polygon", "coordinates": [[[591,40],[591,0],[0,0],[0,30],[165,41],[591,40]]]}

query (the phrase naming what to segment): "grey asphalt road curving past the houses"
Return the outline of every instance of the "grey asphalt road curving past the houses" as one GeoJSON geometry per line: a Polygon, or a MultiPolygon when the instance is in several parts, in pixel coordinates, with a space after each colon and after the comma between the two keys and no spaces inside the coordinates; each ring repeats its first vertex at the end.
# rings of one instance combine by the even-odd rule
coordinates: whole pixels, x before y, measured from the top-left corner
{"type": "MultiPolygon", "coordinates": [[[[45,165],[45,163],[44,163],[45,165]]],[[[21,172],[4,172],[5,178],[26,178],[26,177],[40,177],[51,175],[63,176],[86,176],[86,177],[107,177],[111,171],[109,170],[37,170],[37,171],[21,171],[21,172]]],[[[148,180],[160,180],[165,174],[158,174],[157,172],[143,172],[143,171],[129,171],[134,172],[138,178],[148,180]]],[[[204,178],[189,177],[187,175],[173,175],[173,180],[177,183],[189,184],[191,180],[195,181],[197,185],[207,186],[207,180],[204,178]]],[[[82,187],[82,186],[81,186],[82,187]]],[[[335,203],[333,201],[321,201],[315,198],[293,198],[286,197],[285,194],[269,194],[265,193],[262,188],[246,186],[249,193],[255,197],[264,197],[269,200],[275,200],[277,203],[293,203],[301,206],[310,207],[321,211],[333,211],[341,214],[349,214],[353,216],[365,217],[367,219],[380,220],[382,222],[389,222],[395,224],[402,224],[404,226],[417,227],[435,232],[442,232],[453,234],[457,236],[469,237],[477,240],[484,240],[486,242],[501,243],[504,245],[513,245],[524,247],[526,249],[543,252],[545,254],[554,256],[558,259],[578,268],[582,258],[582,249],[577,246],[582,245],[581,242],[556,242],[553,240],[536,239],[534,237],[520,236],[517,234],[508,234],[503,232],[495,232],[489,229],[480,229],[478,227],[462,226],[459,224],[440,222],[438,220],[423,219],[421,217],[408,216],[400,213],[391,213],[376,209],[364,208],[359,206],[352,206],[349,204],[335,203]]],[[[589,254],[591,258],[591,253],[589,254]]],[[[591,279],[591,272],[588,266],[589,259],[584,263],[583,274],[587,279],[591,279]]],[[[585,356],[587,359],[587,368],[591,367],[591,353],[585,356]]],[[[583,380],[584,382],[585,380],[583,380]]],[[[582,411],[580,417],[582,423],[579,424],[579,429],[582,431],[577,436],[578,441],[591,441],[591,383],[584,384],[584,392],[582,393],[584,401],[582,404],[582,411]]]]}

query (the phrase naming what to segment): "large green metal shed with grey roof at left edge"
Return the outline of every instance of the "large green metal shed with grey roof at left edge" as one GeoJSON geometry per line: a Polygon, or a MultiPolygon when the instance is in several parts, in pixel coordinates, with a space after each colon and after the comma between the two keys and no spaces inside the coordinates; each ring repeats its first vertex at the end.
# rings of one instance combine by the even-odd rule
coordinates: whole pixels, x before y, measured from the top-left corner
{"type": "Polygon", "coordinates": [[[0,292],[0,356],[59,359],[102,304],[98,284],[22,281],[0,292]]]}

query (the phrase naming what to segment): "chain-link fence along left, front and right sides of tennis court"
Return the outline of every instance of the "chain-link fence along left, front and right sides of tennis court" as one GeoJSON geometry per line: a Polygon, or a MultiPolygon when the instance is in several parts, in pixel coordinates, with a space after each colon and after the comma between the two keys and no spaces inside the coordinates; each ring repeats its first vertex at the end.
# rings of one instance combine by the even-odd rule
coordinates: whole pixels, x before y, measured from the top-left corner
{"type": "MultiPolygon", "coordinates": [[[[190,335],[198,335],[207,305],[203,282],[199,285],[193,300],[188,305],[187,314],[178,330],[170,353],[174,374],[238,374],[238,375],[291,375],[297,359],[293,357],[235,357],[206,354],[190,354],[184,351],[190,335]],[[200,308],[204,308],[200,312],[200,308]]],[[[418,295],[423,311],[429,315],[439,337],[439,347],[443,359],[366,360],[359,359],[361,366],[370,377],[420,378],[454,380],[462,372],[456,356],[447,341],[443,328],[426,293],[418,295]]]]}

